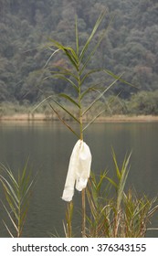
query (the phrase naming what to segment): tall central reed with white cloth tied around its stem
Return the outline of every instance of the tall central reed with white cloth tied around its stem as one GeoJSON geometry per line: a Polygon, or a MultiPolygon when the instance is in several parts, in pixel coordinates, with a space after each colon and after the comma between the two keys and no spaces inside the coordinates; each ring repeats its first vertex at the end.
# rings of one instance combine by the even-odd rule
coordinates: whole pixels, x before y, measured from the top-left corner
{"type": "MultiPolygon", "coordinates": [[[[76,23],[75,23],[75,37],[76,37],[76,47],[70,47],[65,46],[64,44],[61,44],[60,42],[56,41],[55,39],[50,39],[49,43],[47,43],[47,49],[51,52],[50,57],[47,59],[47,63],[44,67],[44,73],[49,73],[46,79],[59,79],[64,80],[65,83],[71,88],[71,94],[68,93],[59,93],[58,95],[49,95],[46,97],[43,101],[41,101],[37,107],[34,109],[34,111],[44,102],[48,102],[50,108],[53,112],[56,113],[58,116],[58,119],[63,123],[70,131],[71,133],[74,133],[75,136],[83,141],[84,139],[84,132],[88,129],[91,123],[95,122],[95,120],[103,113],[107,108],[110,108],[109,105],[105,104],[103,109],[99,109],[99,112],[95,108],[96,104],[100,101],[101,98],[104,98],[104,95],[107,91],[111,89],[111,87],[117,83],[117,81],[121,81],[124,83],[127,83],[125,80],[122,80],[122,74],[121,75],[115,75],[113,74],[109,69],[90,69],[90,60],[94,56],[95,52],[100,47],[100,43],[103,40],[103,38],[106,35],[106,32],[111,25],[110,23],[106,26],[103,33],[98,35],[98,41],[97,43],[92,47],[91,41],[95,37],[99,27],[100,23],[103,21],[106,11],[103,11],[100,13],[100,16],[98,17],[91,33],[90,37],[88,37],[86,43],[84,46],[79,46],[79,31],[78,31],[78,20],[76,17],[76,23]],[[54,68],[52,59],[55,55],[61,53],[65,59],[67,59],[68,68],[61,66],[57,66],[55,63],[54,68]],[[96,73],[100,73],[102,77],[105,75],[111,77],[111,84],[108,86],[100,84],[91,84],[88,82],[90,77],[92,75],[95,75],[96,73]],[[88,94],[94,93],[92,101],[90,101],[89,104],[86,104],[86,97],[88,94]],[[72,95],[76,95],[73,97],[72,95]],[[62,100],[63,99],[63,103],[62,100]],[[71,108],[68,108],[68,105],[71,106],[71,108]],[[77,130],[74,130],[73,126],[69,124],[66,120],[63,118],[63,116],[60,114],[59,109],[63,112],[66,112],[68,116],[70,117],[71,121],[74,121],[75,123],[78,123],[77,130]],[[74,114],[75,112],[75,114],[74,114]],[[88,121],[88,123],[84,123],[83,121],[87,119],[87,115],[89,112],[94,112],[93,117],[91,120],[88,121]],[[78,114],[76,114],[78,113],[78,114]]],[[[105,78],[106,80],[106,78],[105,78]]],[[[81,201],[82,201],[82,237],[85,237],[86,234],[86,199],[85,199],[85,189],[82,190],[81,195],[81,201]]],[[[72,203],[71,203],[72,204],[72,203]]],[[[68,214],[67,211],[67,221],[68,225],[65,227],[68,227],[68,234],[72,234],[71,232],[71,214],[68,214]],[[68,216],[70,218],[68,219],[68,216]]]]}

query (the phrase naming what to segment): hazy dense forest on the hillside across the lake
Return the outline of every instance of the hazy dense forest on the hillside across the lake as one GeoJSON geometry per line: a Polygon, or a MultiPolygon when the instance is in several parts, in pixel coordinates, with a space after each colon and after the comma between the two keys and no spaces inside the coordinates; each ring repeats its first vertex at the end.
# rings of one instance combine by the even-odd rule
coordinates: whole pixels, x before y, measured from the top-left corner
{"type": "MultiPolygon", "coordinates": [[[[75,16],[80,44],[90,35],[100,11],[106,8],[104,25],[114,16],[90,69],[106,68],[134,87],[119,84],[126,107],[121,112],[158,113],[158,2],[157,0],[0,0],[0,103],[34,104],[47,93],[68,91],[58,80],[41,82],[41,69],[50,52],[49,38],[73,46],[75,16]]],[[[99,33],[105,29],[100,27],[99,33]]],[[[95,40],[97,41],[97,34],[95,40]]],[[[94,42],[95,43],[95,42],[94,42]]],[[[54,64],[67,66],[56,56],[54,64]]],[[[95,77],[100,82],[100,76],[95,77]]],[[[89,82],[92,82],[90,80],[89,82]]],[[[107,86],[109,80],[102,81],[107,86]]],[[[122,104],[121,104],[122,106],[122,104]]],[[[118,109],[118,108],[117,108],[118,109]]]]}

